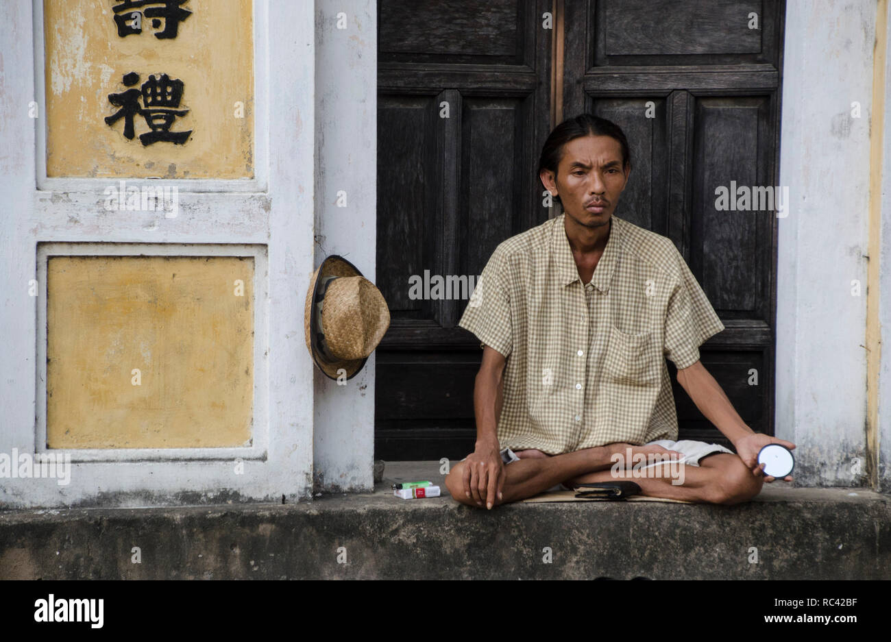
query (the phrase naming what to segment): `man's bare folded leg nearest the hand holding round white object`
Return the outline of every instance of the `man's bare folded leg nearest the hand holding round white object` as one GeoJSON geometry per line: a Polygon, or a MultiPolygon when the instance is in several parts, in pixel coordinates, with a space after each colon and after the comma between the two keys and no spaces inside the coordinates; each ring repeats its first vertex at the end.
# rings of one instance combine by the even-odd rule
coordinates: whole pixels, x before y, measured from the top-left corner
{"type": "MultiPolygon", "coordinates": [[[[674,465],[675,475],[677,466],[674,465]]],[[[613,475],[611,470],[602,470],[579,475],[567,484],[593,484],[625,479],[638,484],[642,494],[647,497],[728,506],[751,500],[761,492],[764,485],[763,475],[753,475],[739,455],[728,452],[707,455],[699,460],[699,466],[684,466],[683,484],[679,485],[672,484],[672,467],[668,464],[646,468],[640,472],[648,476],[635,477],[633,470],[617,471],[617,475],[613,475]]]]}

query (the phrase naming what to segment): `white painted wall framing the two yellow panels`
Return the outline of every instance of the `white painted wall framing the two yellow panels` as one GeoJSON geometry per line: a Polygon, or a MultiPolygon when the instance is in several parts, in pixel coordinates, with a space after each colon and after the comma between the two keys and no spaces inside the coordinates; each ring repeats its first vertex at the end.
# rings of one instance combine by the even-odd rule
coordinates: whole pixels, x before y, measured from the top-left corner
{"type": "Polygon", "coordinates": [[[300,286],[314,267],[313,4],[255,4],[257,123],[268,123],[257,127],[257,175],[268,179],[267,189],[262,181],[254,182],[256,193],[242,191],[241,183],[179,183],[176,218],[106,210],[104,188],[117,181],[66,179],[37,190],[36,154],[43,153],[37,131],[45,125],[42,118],[29,118],[29,102],[39,102],[35,77],[42,78],[35,73],[40,69],[35,51],[41,48],[34,43],[34,25],[42,22],[32,13],[40,6],[4,0],[0,20],[0,453],[35,452],[36,403],[42,402],[35,357],[39,297],[29,296],[29,280],[37,279],[39,241],[267,245],[268,270],[257,274],[267,279],[268,297],[257,300],[267,331],[257,327],[256,337],[267,349],[265,361],[255,367],[267,369],[268,404],[255,404],[254,427],[266,431],[268,448],[246,458],[241,474],[231,449],[203,460],[119,451],[117,459],[129,460],[73,464],[66,485],[55,479],[0,479],[0,506],[308,498],[314,366],[304,344],[305,288],[300,286]],[[262,137],[268,137],[268,147],[262,137]]]}

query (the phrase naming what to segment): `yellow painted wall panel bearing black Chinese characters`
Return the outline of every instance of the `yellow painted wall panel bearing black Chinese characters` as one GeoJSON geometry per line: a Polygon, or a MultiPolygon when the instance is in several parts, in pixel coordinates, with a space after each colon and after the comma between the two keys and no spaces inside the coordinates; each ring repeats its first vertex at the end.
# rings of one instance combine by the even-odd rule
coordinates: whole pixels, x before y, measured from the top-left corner
{"type": "MultiPolygon", "coordinates": [[[[187,0],[176,37],[158,38],[166,18],[145,17],[142,33],[119,36],[111,0],[44,0],[46,175],[72,177],[252,178],[254,176],[254,74],[251,0],[187,0]],[[152,26],[158,20],[159,27],[152,26]],[[138,74],[125,86],[124,76],[138,74]],[[182,144],[143,145],[140,135],[163,117],[137,114],[132,139],[127,118],[110,93],[140,90],[150,76],[183,82],[169,132],[192,131],[182,144]],[[240,110],[239,105],[243,105],[240,110]],[[240,116],[243,115],[243,118],[240,116]]],[[[153,3],[164,6],[164,3],[153,3]]],[[[134,12],[147,12],[151,5],[134,12]]],[[[151,12],[150,16],[151,16],[151,12]]],[[[129,24],[132,24],[132,20],[129,24]]],[[[136,99],[145,109],[145,99],[136,99]]],[[[161,106],[163,108],[163,106],[161,106]]],[[[149,105],[151,109],[151,104],[149,105]]],[[[173,109],[168,107],[165,109],[173,109]]]]}

